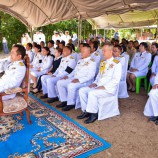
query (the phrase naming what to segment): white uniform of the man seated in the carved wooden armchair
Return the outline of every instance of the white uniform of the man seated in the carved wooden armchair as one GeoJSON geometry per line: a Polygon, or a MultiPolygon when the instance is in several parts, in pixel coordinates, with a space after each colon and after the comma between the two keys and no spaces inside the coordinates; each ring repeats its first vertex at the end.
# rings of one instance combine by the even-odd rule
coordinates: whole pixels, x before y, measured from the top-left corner
{"type": "MultiPolygon", "coordinates": [[[[23,60],[12,62],[8,65],[5,74],[0,78],[0,92],[6,89],[19,87],[25,76],[26,67],[23,60]]],[[[14,98],[16,94],[6,95],[3,100],[14,98]]]]}

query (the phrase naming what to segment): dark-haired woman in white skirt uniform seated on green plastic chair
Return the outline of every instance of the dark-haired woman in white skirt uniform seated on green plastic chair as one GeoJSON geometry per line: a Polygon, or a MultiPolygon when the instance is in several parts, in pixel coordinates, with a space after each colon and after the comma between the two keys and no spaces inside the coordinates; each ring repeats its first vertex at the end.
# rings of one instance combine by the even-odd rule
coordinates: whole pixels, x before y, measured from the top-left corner
{"type": "Polygon", "coordinates": [[[127,82],[129,84],[128,90],[135,92],[136,77],[146,76],[148,73],[148,65],[151,61],[151,54],[147,52],[148,45],[142,42],[139,46],[139,51],[132,59],[130,69],[127,73],[127,82]]]}

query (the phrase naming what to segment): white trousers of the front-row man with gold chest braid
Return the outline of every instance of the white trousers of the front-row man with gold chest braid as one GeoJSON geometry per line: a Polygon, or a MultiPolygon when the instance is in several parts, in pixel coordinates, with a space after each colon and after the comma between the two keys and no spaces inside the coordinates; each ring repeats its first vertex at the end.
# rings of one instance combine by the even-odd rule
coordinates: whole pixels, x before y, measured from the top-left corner
{"type": "Polygon", "coordinates": [[[95,88],[83,87],[79,90],[79,97],[81,102],[81,109],[83,112],[98,113],[99,98],[113,96],[107,93],[106,90],[97,90],[95,88]]]}

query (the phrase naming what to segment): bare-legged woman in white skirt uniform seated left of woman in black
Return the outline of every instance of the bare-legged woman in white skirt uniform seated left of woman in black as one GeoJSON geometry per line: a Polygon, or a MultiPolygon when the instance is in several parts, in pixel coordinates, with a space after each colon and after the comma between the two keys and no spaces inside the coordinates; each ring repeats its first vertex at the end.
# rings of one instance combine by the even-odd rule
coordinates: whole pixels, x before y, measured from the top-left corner
{"type": "Polygon", "coordinates": [[[37,86],[37,79],[43,74],[46,74],[52,66],[53,57],[50,55],[50,50],[48,47],[43,47],[42,49],[43,59],[40,61],[40,65],[37,69],[31,69],[31,79],[34,83],[33,88],[37,86]]]}

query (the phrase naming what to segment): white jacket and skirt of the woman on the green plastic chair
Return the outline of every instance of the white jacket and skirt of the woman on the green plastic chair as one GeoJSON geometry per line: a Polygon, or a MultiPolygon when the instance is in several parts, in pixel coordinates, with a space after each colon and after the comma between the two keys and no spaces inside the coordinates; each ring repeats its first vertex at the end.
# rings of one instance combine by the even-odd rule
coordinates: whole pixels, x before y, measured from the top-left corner
{"type": "Polygon", "coordinates": [[[131,66],[130,68],[135,68],[138,69],[136,72],[130,72],[134,74],[136,77],[139,76],[146,76],[148,73],[148,65],[151,61],[151,54],[147,52],[143,52],[142,55],[141,53],[136,53],[132,59],[131,66]]]}

